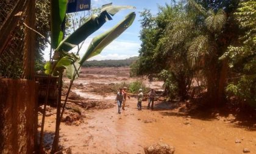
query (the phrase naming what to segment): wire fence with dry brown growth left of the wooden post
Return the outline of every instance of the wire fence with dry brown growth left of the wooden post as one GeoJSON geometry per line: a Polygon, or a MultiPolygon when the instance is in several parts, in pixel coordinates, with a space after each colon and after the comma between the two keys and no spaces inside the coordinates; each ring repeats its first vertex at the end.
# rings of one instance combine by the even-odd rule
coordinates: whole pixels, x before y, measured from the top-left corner
{"type": "Polygon", "coordinates": [[[26,43],[26,32],[24,22],[26,21],[27,8],[29,7],[29,3],[23,1],[22,5],[19,5],[16,0],[3,0],[0,2],[0,27],[2,29],[6,29],[4,23],[10,18],[15,18],[16,21],[13,29],[10,30],[10,33],[7,33],[4,37],[7,42],[5,43],[4,48],[0,51],[0,77],[4,78],[23,78],[24,74],[24,44],[26,43]],[[19,12],[15,12],[14,16],[11,16],[13,9],[18,5],[19,12]]]}

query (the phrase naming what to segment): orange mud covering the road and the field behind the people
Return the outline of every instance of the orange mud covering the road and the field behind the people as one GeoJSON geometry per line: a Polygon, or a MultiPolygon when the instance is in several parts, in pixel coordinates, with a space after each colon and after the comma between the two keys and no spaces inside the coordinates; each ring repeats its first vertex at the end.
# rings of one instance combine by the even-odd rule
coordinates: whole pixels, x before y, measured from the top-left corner
{"type": "MultiPolygon", "coordinates": [[[[71,147],[73,153],[144,153],[143,147],[156,142],[174,146],[177,154],[243,153],[244,148],[256,153],[255,129],[222,120],[228,117],[218,120],[189,116],[180,110],[185,104],[159,100],[152,111],[146,109],[148,102],[144,101],[142,111],[138,111],[137,99],[131,97],[127,100],[126,110],[118,114],[115,93],[102,94],[93,89],[102,84],[137,80],[129,78],[129,69],[92,68],[82,71],[84,73],[76,80],[73,92],[88,101],[100,100],[108,107],[90,110],[77,107],[82,120],[73,125],[62,122],[60,145],[71,147]],[[235,143],[238,140],[240,143],[235,143]]],[[[162,88],[162,82],[148,83],[146,79],[144,82],[162,88]]],[[[69,102],[68,105],[74,104],[69,102]]],[[[54,113],[54,108],[52,110],[54,113]]],[[[54,122],[55,114],[46,117],[45,130],[49,138],[45,142],[51,142],[54,122]]]]}

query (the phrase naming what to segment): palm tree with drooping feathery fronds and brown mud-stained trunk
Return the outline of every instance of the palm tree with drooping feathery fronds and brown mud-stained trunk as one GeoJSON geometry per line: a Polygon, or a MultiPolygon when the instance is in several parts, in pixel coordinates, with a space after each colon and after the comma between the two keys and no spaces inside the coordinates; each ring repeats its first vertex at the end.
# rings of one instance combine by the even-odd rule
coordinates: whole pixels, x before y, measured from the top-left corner
{"type": "Polygon", "coordinates": [[[201,34],[190,43],[188,60],[193,68],[204,67],[209,102],[215,100],[216,103],[220,103],[224,95],[227,61],[218,60],[226,50],[221,46],[219,40],[227,23],[226,13],[222,9],[219,9],[218,12],[214,12],[212,9],[207,11],[194,0],[188,0],[187,8],[189,12],[197,13],[196,24],[201,29],[201,34]],[[216,95],[218,100],[215,99],[216,95]]]}

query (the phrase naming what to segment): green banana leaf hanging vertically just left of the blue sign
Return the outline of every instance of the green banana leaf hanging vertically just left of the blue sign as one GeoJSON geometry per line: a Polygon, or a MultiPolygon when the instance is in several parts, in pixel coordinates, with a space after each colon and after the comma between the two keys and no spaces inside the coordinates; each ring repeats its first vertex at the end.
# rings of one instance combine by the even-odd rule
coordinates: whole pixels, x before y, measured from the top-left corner
{"type": "Polygon", "coordinates": [[[51,0],[51,45],[56,49],[63,39],[61,25],[66,15],[67,0],[51,0]]]}

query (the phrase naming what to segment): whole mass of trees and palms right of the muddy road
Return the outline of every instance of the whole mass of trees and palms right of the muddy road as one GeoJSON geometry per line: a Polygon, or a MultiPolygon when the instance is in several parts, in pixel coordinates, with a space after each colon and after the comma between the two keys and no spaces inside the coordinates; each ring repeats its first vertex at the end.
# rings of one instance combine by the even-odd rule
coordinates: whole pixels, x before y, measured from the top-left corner
{"type": "Polygon", "coordinates": [[[132,74],[159,77],[182,100],[200,76],[208,105],[224,105],[226,94],[256,105],[254,1],[174,1],[140,15],[132,74]]]}

